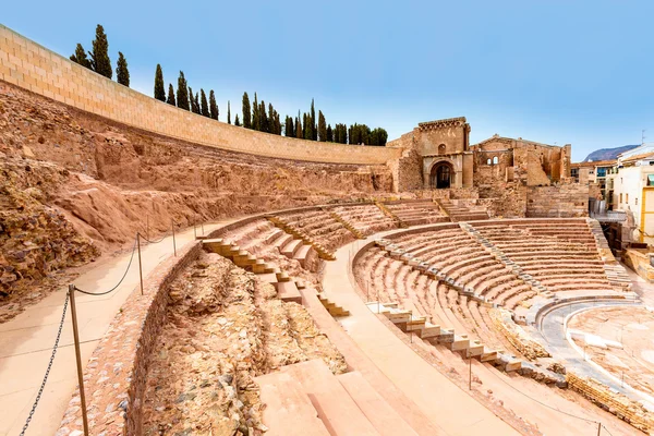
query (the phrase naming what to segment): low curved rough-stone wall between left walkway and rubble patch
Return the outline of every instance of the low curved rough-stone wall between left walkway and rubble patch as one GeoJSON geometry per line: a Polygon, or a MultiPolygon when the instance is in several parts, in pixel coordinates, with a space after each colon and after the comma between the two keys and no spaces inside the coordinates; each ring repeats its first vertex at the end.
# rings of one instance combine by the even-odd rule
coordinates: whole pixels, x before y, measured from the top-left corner
{"type": "MultiPolygon", "coordinates": [[[[202,243],[186,244],[147,276],[111,322],[84,371],[90,435],[142,435],[142,405],[153,347],[166,322],[168,286],[197,258],[202,243]]],[[[71,399],[57,436],[81,435],[80,390],[71,399]]]]}

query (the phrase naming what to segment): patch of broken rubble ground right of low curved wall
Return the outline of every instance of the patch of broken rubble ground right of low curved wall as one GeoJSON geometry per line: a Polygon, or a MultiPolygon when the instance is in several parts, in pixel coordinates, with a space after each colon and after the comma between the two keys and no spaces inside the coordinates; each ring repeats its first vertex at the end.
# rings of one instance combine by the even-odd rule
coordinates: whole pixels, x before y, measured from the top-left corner
{"type": "Polygon", "coordinates": [[[335,374],[347,368],[304,307],[217,254],[204,253],[169,295],[148,370],[145,435],[263,434],[253,377],[316,358],[335,374]]]}

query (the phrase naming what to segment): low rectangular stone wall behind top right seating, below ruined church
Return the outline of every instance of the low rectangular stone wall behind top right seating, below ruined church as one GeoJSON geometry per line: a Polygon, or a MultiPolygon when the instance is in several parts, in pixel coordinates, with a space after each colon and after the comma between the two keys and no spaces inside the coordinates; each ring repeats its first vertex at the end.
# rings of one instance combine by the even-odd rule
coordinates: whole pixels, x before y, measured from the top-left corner
{"type": "Polygon", "coordinates": [[[528,218],[588,217],[589,186],[579,183],[526,186],[528,218]]]}

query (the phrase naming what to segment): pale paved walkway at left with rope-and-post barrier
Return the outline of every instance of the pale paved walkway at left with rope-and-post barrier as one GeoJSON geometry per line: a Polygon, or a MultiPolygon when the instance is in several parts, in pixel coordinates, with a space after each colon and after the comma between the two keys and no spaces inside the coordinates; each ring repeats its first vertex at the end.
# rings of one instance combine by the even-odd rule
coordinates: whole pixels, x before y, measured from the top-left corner
{"type": "MultiPolygon", "coordinates": [[[[205,233],[229,221],[205,225],[205,233]]],[[[199,231],[199,228],[197,229],[199,231]]],[[[193,229],[175,234],[178,247],[193,241],[193,229]]],[[[172,237],[157,244],[142,246],[143,276],[146,278],[161,261],[172,255],[172,237]]],[[[106,291],[119,281],[130,253],[101,262],[75,279],[75,284],[89,292],[106,291]]],[[[138,259],[134,255],[124,281],[102,296],[76,293],[82,361],[90,358],[116,313],[130,293],[138,292],[138,259]]],[[[61,320],[66,288],[28,307],[12,320],[0,324],[0,435],[21,433],[40,387],[61,320]]],[[[70,306],[59,350],[26,435],[51,435],[59,428],[69,400],[77,387],[70,306]]]]}

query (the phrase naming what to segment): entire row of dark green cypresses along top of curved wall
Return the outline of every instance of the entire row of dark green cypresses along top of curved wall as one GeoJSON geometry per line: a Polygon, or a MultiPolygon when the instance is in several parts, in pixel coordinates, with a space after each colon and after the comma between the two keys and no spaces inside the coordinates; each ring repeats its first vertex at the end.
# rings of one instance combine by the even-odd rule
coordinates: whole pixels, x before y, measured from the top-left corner
{"type": "MultiPolygon", "coordinates": [[[[77,44],[75,52],[70,59],[108,78],[112,78],[113,76],[111,59],[109,58],[109,43],[105,34],[105,28],[99,24],[96,27],[96,37],[92,41],[92,50],[87,52],[82,44],[77,44]]],[[[116,78],[118,83],[130,86],[128,61],[121,51],[118,52],[116,78]]],[[[214,89],[209,90],[208,98],[203,88],[199,92],[193,93],[193,88],[186,82],[183,71],[180,71],[177,90],[172,86],[172,83],[169,83],[167,95],[164,71],[160,64],[157,64],[155,70],[155,98],[214,120],[218,120],[220,114],[214,89]]],[[[316,119],[313,99],[311,100],[308,112],[300,113],[298,111],[298,117],[286,116],[282,124],[279,112],[277,112],[272,104],[269,102],[266,106],[263,99],[258,101],[256,93],[254,93],[254,101],[251,104],[247,93],[243,93],[242,116],[242,121],[239,119],[239,114],[235,116],[234,125],[308,141],[384,146],[388,140],[388,133],[382,128],[371,130],[367,125],[358,123],[350,126],[337,123],[332,128],[331,124],[327,124],[322,110],[318,110],[316,119]]],[[[227,102],[227,122],[231,124],[230,101],[227,102]]]]}

